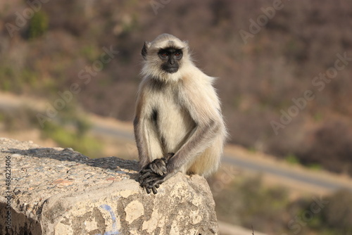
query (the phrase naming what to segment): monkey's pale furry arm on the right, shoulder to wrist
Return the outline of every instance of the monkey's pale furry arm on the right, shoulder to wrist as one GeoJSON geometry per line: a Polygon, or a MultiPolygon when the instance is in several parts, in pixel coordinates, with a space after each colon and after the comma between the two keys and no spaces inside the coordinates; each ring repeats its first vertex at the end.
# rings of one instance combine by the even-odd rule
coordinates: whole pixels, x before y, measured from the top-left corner
{"type": "Polygon", "coordinates": [[[189,112],[196,126],[182,147],[169,160],[168,172],[178,172],[189,165],[206,150],[216,136],[225,133],[225,125],[220,111],[220,101],[212,85],[212,78],[196,74],[185,77],[182,94],[184,108],[189,112]]]}

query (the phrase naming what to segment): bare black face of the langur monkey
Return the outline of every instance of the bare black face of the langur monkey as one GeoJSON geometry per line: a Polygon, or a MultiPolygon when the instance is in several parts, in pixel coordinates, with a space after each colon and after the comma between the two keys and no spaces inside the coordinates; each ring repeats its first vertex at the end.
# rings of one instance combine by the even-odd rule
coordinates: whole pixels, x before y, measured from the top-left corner
{"type": "Polygon", "coordinates": [[[161,58],[161,61],[163,61],[161,69],[169,73],[177,72],[180,67],[179,63],[182,59],[182,55],[183,54],[181,49],[175,49],[171,47],[161,49],[158,52],[158,56],[161,58]]]}

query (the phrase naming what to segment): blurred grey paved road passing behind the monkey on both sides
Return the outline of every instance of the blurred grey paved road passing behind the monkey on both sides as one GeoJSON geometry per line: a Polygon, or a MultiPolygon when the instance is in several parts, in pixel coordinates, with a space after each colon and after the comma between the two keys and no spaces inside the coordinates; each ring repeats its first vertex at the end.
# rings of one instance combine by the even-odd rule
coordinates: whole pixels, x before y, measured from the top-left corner
{"type": "MultiPolygon", "coordinates": [[[[127,141],[134,141],[134,135],[131,132],[122,131],[120,129],[112,129],[110,127],[103,127],[101,125],[94,125],[92,131],[96,134],[106,134],[111,137],[125,139],[127,141]]],[[[239,158],[237,155],[229,155],[228,153],[222,158],[222,163],[234,165],[244,170],[251,170],[252,172],[263,172],[264,174],[270,174],[277,178],[285,178],[294,180],[297,184],[306,184],[310,186],[320,187],[325,191],[333,192],[338,189],[348,189],[352,191],[352,183],[346,185],[336,181],[327,181],[321,177],[313,176],[310,174],[304,174],[303,172],[296,172],[294,170],[288,170],[277,167],[276,165],[263,165],[252,159],[239,158]]]]}

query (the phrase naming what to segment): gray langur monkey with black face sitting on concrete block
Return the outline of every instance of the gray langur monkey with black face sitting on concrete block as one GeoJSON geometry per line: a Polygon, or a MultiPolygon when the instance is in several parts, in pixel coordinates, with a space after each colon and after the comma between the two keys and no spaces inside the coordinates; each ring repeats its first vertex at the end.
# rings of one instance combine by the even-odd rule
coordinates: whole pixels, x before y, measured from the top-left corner
{"type": "Polygon", "coordinates": [[[134,136],[139,184],[147,193],[177,172],[215,172],[227,136],[213,77],[191,61],[189,46],[161,34],[142,49],[134,136]]]}

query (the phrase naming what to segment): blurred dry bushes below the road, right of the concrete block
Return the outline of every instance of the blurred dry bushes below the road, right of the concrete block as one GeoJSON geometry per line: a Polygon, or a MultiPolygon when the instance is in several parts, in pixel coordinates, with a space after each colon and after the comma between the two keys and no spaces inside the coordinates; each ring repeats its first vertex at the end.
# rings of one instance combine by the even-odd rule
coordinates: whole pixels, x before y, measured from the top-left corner
{"type": "Polygon", "coordinates": [[[291,198],[282,187],[264,186],[260,176],[236,177],[214,199],[218,220],[266,234],[352,234],[351,191],[291,198]]]}

